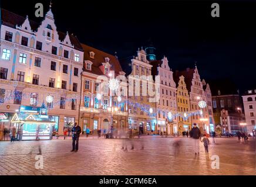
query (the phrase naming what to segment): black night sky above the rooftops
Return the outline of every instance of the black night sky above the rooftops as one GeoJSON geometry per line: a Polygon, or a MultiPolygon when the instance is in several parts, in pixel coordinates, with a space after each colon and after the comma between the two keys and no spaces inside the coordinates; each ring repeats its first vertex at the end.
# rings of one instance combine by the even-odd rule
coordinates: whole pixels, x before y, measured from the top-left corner
{"type": "MultiPolygon", "coordinates": [[[[38,20],[37,2],[45,13],[49,8],[49,0],[1,2],[2,8],[33,20],[38,20]]],[[[214,1],[220,18],[211,17],[211,1],[52,2],[58,30],[107,53],[117,51],[124,70],[151,38],[157,58],[167,56],[173,70],[194,67],[197,61],[206,81],[231,78],[240,89],[256,88],[255,1],[214,1]]]]}

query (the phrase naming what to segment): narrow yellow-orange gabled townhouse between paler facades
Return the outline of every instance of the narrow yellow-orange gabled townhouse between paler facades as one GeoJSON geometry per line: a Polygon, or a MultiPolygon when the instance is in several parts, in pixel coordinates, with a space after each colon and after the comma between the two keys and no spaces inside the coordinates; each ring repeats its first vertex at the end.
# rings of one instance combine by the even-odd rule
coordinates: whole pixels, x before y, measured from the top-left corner
{"type": "MultiPolygon", "coordinates": [[[[190,96],[188,94],[185,78],[183,75],[176,78],[177,82],[177,112],[191,112],[190,109],[190,96]]],[[[191,116],[184,117],[178,116],[178,132],[181,134],[183,131],[191,130],[191,116]]]]}

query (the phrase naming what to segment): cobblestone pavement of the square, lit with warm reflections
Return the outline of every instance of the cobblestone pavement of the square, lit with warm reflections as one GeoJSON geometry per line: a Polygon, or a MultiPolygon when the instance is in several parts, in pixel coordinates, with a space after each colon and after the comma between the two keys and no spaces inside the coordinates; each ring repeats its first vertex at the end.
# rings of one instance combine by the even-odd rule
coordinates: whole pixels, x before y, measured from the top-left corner
{"type": "Polygon", "coordinates": [[[0,175],[256,175],[252,138],[245,143],[215,138],[209,157],[203,143],[195,155],[187,137],[81,139],[77,153],[70,152],[71,144],[72,140],[2,141],[0,175]],[[35,168],[38,154],[43,156],[43,169],[35,168]],[[220,157],[220,169],[211,168],[212,155],[220,157]]]}

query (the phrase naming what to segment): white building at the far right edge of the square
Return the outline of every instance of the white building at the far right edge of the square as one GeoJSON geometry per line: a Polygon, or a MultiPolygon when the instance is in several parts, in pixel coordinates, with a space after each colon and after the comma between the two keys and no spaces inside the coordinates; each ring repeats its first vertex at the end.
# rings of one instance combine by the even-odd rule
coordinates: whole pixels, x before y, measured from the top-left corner
{"type": "Polygon", "coordinates": [[[247,133],[252,136],[255,135],[256,130],[256,89],[248,90],[242,95],[242,101],[244,102],[247,133]]]}

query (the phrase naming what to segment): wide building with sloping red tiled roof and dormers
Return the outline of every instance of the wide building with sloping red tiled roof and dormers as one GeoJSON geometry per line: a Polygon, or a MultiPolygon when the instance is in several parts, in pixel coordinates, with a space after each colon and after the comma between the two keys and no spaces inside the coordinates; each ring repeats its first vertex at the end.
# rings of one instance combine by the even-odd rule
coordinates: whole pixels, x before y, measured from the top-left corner
{"type": "Polygon", "coordinates": [[[82,76],[83,101],[80,108],[83,131],[89,128],[92,134],[98,129],[109,132],[113,129],[127,130],[127,81],[116,56],[82,44],[84,68],[82,76]],[[109,88],[110,79],[118,79],[119,88],[109,88]],[[113,124],[113,126],[112,126],[113,124]]]}

